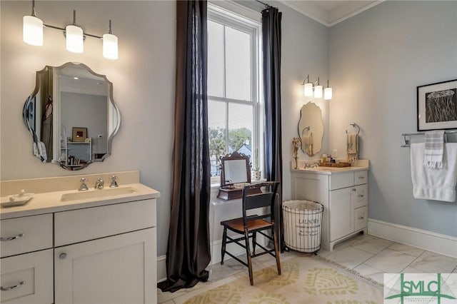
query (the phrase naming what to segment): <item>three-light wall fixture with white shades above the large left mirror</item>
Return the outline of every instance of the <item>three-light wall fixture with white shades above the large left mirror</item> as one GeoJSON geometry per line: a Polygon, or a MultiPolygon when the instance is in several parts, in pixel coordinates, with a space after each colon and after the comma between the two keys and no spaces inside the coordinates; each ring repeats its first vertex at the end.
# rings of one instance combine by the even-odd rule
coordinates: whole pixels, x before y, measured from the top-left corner
{"type": "Polygon", "coordinates": [[[66,49],[74,53],[82,53],[84,51],[84,39],[86,36],[91,36],[103,41],[103,56],[106,59],[118,59],[118,44],[117,37],[111,31],[111,20],[109,21],[109,34],[96,36],[84,33],[81,26],[76,25],[76,11],[73,11],[73,24],[69,24],[64,28],[44,24],[41,19],[36,17],[35,0],[32,0],[31,16],[24,16],[24,24],[22,36],[26,44],[32,46],[43,45],[43,27],[51,29],[59,29],[64,32],[66,37],[66,49]]]}

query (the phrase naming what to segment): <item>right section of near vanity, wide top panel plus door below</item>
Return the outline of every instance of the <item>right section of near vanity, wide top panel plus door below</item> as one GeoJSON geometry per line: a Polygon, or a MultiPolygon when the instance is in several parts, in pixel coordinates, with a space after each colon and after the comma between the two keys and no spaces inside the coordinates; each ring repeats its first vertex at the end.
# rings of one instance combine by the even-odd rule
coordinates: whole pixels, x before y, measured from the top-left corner
{"type": "Polygon", "coordinates": [[[155,226],[155,200],[55,213],[55,303],[156,303],[155,226]]]}

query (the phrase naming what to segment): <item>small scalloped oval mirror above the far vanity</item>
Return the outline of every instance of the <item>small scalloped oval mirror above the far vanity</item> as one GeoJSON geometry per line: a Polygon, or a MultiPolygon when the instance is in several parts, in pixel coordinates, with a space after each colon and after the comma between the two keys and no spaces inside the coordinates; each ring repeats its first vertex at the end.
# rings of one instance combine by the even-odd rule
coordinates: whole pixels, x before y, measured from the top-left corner
{"type": "Polygon", "coordinates": [[[298,137],[301,140],[301,151],[303,153],[308,156],[315,156],[321,152],[323,121],[321,108],[316,103],[308,102],[301,107],[298,137]]]}

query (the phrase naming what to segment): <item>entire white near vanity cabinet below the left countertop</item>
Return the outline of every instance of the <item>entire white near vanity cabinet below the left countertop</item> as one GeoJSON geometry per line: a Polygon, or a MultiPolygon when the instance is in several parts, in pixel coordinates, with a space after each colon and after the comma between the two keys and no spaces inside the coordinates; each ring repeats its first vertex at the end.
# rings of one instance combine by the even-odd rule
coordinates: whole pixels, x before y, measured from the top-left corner
{"type": "Polygon", "coordinates": [[[118,201],[2,219],[1,303],[156,303],[156,198],[118,201]]]}

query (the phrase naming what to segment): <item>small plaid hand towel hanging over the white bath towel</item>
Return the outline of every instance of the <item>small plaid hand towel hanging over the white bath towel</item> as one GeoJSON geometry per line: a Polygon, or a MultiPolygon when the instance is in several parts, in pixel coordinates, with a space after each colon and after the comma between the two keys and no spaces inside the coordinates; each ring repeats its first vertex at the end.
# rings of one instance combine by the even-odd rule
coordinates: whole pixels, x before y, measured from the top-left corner
{"type": "Polygon", "coordinates": [[[426,132],[426,151],[423,166],[443,168],[444,130],[426,132]]]}

